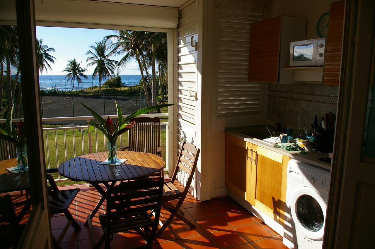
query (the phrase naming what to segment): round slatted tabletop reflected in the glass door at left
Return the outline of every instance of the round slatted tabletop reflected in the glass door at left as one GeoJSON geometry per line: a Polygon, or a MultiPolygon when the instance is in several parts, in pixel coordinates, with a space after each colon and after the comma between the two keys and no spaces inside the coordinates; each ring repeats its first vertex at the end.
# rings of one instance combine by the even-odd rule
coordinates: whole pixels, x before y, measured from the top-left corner
{"type": "Polygon", "coordinates": [[[0,193],[7,193],[30,188],[28,170],[21,173],[11,173],[6,168],[17,165],[17,159],[0,161],[0,193]]]}

